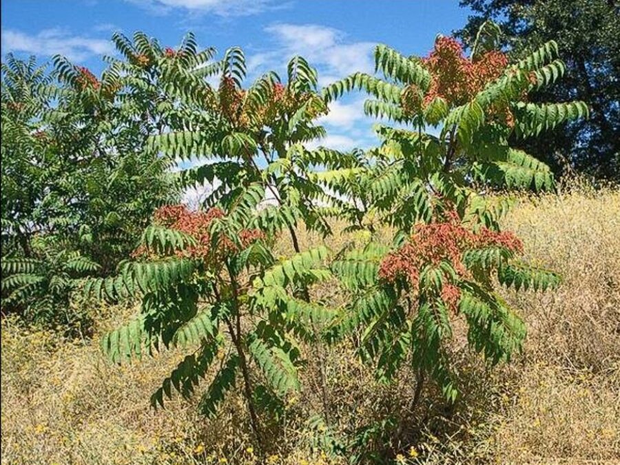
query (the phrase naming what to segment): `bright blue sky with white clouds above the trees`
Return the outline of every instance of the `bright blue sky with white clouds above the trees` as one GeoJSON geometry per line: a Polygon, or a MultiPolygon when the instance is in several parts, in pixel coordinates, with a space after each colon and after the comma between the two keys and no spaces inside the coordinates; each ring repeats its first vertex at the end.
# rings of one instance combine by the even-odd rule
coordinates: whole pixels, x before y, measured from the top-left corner
{"type": "MultiPolygon", "coordinates": [[[[325,84],[355,71],[372,72],[372,50],[386,43],[404,54],[426,54],[438,33],[464,25],[458,0],[2,0],[2,54],[68,56],[94,72],[114,54],[110,36],[141,30],[175,46],[191,30],[199,45],[221,56],[233,45],[246,53],[250,77],[282,75],[301,54],[325,84]]],[[[333,103],[323,119],[335,149],[375,142],[363,96],[333,103]]]]}

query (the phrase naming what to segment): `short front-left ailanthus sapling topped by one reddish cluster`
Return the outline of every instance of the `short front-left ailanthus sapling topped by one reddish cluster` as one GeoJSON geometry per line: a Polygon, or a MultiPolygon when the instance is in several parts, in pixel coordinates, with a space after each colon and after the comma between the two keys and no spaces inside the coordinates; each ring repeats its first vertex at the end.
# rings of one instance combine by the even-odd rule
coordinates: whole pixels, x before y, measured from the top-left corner
{"type": "Polygon", "coordinates": [[[277,419],[285,396],[300,388],[300,342],[313,340],[313,324],[333,318],[304,299],[309,286],[331,277],[327,249],[276,258],[268,231],[255,227],[262,196],[254,186],[207,211],[158,209],[118,275],[85,285],[87,296],[112,302],[141,298],[137,318],[102,341],[113,362],[192,348],[152,395],[153,406],[164,406],[173,391],[190,397],[217,364],[200,411],[213,417],[238,386],[259,444],[265,439],[260,418],[277,419]]]}

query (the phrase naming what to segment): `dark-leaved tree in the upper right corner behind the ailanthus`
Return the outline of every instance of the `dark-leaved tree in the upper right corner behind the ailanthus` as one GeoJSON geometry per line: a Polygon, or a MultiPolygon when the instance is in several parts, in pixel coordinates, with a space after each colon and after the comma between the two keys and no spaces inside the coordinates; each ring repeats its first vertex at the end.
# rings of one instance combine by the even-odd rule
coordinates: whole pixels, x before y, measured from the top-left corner
{"type": "Polygon", "coordinates": [[[561,43],[567,76],[530,94],[533,101],[586,102],[592,114],[519,144],[559,172],[575,169],[620,179],[620,3],[615,0],[462,0],[475,14],[458,32],[467,45],[486,19],[499,23],[502,43],[519,58],[533,44],[561,43]],[[566,160],[565,160],[566,159],[566,160]]]}

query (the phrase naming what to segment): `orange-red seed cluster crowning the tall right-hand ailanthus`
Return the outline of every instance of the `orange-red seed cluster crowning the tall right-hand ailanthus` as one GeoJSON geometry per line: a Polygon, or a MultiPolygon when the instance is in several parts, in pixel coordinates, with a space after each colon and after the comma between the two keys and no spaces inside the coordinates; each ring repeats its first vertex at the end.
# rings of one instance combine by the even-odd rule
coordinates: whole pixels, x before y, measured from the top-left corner
{"type": "Polygon", "coordinates": [[[431,72],[431,88],[424,98],[428,104],[436,96],[448,105],[462,105],[484,86],[497,79],[506,65],[506,55],[497,50],[486,52],[477,61],[466,58],[462,45],[452,37],[440,37],[435,48],[422,62],[431,72]]]}

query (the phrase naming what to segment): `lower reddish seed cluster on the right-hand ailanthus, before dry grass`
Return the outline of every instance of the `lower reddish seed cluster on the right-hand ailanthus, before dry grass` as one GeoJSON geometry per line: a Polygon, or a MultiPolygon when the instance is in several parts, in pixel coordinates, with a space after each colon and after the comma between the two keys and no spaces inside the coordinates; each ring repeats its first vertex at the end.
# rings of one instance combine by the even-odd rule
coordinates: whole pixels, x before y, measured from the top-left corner
{"type": "MultiPolygon", "coordinates": [[[[409,242],[384,258],[379,276],[387,282],[405,278],[415,289],[424,267],[446,261],[451,263],[459,276],[465,278],[468,271],[462,262],[464,251],[484,247],[504,247],[515,253],[523,252],[523,243],[512,232],[496,232],[485,227],[473,232],[466,229],[460,223],[458,214],[453,212],[441,223],[417,225],[409,242]]],[[[459,297],[457,287],[444,285],[442,299],[448,307],[455,309],[459,297]]]]}

